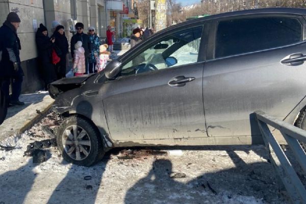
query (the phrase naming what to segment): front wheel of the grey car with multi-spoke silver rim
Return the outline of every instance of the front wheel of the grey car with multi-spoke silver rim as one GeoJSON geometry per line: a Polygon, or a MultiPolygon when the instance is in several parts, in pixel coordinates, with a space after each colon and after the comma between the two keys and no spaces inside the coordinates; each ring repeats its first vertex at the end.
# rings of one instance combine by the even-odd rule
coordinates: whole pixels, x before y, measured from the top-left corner
{"type": "Polygon", "coordinates": [[[77,115],[63,120],[57,131],[57,143],[63,158],[80,166],[91,166],[105,154],[94,124],[77,115]]]}

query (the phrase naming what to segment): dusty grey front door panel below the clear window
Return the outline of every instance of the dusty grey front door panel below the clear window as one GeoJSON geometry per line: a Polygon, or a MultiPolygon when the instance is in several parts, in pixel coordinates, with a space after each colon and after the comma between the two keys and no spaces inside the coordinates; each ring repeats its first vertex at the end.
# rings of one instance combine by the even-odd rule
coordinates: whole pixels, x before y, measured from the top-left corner
{"type": "Polygon", "coordinates": [[[203,64],[195,63],[106,83],[101,95],[112,138],[207,137],[202,73],[203,64]],[[171,79],[180,75],[196,79],[183,87],[168,85],[171,79]]]}

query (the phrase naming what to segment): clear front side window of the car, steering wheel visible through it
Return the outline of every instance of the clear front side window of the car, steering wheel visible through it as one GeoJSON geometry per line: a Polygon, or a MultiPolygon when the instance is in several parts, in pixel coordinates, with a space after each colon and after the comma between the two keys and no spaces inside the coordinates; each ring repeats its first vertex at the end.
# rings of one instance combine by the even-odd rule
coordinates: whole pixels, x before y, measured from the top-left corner
{"type": "Polygon", "coordinates": [[[126,63],[122,75],[139,74],[197,62],[202,27],[166,35],[126,63]]]}

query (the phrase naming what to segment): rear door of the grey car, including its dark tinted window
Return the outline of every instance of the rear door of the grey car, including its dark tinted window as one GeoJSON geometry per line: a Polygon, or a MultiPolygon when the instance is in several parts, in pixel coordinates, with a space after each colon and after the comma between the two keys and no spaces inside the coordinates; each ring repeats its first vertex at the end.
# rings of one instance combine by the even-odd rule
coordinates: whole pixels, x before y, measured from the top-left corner
{"type": "Polygon", "coordinates": [[[252,112],[262,110],[283,120],[302,100],[306,65],[282,60],[306,54],[304,25],[302,16],[285,14],[214,21],[210,60],[203,72],[209,136],[233,137],[233,143],[240,144],[260,143],[252,112]]]}

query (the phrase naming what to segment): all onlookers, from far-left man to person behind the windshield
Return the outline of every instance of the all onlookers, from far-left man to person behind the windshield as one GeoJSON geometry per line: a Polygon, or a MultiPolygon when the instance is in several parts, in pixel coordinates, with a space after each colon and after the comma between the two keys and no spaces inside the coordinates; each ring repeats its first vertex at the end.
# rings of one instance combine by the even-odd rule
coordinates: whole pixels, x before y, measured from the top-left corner
{"type": "MultiPolygon", "coordinates": [[[[20,18],[15,12],[10,12],[6,21],[0,28],[0,124],[4,120],[8,106],[24,105],[19,101],[23,70],[20,66],[19,50],[20,40],[17,36],[20,18]],[[9,87],[11,85],[11,95],[9,87]]],[[[49,33],[45,25],[40,23],[36,32],[36,45],[38,50],[38,67],[42,73],[45,90],[48,84],[65,78],[66,62],[68,59],[68,39],[64,26],[58,21],[52,22],[53,33],[49,33]]],[[[101,44],[94,27],[88,28],[88,33],[83,33],[84,24],[75,24],[77,31],[70,41],[72,57],[72,71],[74,76],[99,72],[106,67],[113,52],[113,37],[115,32],[111,26],[107,27],[107,44],[101,44]]],[[[136,28],[131,35],[131,47],[147,39],[154,33],[146,28],[136,28]]]]}

